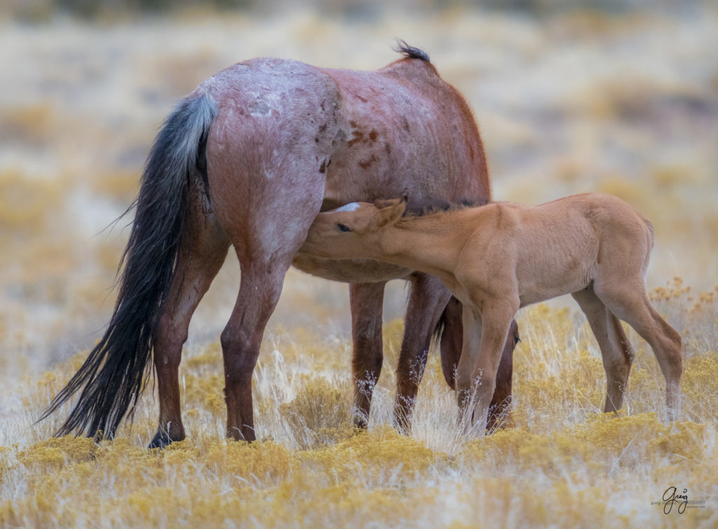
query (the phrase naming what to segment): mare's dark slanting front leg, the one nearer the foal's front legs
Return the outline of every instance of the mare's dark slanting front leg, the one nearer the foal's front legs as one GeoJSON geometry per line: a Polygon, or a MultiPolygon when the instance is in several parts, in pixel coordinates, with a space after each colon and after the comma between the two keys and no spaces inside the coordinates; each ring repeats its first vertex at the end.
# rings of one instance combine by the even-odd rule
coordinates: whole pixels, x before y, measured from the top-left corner
{"type": "Polygon", "coordinates": [[[411,429],[416,393],[424,376],[426,357],[444,306],[451,294],[439,278],[425,273],[412,273],[409,305],[404,320],[404,340],[401,342],[396,369],[396,402],[394,421],[399,431],[411,429]]]}

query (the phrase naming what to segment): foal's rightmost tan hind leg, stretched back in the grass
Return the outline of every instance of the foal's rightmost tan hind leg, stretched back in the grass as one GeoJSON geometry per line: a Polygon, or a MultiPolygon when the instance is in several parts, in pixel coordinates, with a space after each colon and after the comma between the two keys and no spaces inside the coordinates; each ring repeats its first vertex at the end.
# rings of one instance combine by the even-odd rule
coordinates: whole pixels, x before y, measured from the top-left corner
{"type": "Polygon", "coordinates": [[[642,278],[628,279],[620,285],[595,286],[594,289],[613,314],[627,322],[651,345],[666,378],[668,420],[675,421],[681,411],[681,335],[653,308],[642,278]]]}

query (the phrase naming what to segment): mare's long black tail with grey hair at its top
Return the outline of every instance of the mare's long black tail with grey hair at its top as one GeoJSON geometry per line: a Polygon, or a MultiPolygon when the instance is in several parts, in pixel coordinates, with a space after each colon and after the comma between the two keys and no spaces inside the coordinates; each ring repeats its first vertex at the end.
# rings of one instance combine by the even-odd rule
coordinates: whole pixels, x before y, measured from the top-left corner
{"type": "Polygon", "coordinates": [[[205,161],[208,131],[216,113],[209,95],[190,96],[174,108],[154,141],[139,194],[127,210],[134,207],[135,217],[120,261],[124,268],[108,328],[39,418],[47,418],[81,390],[57,436],[86,432],[95,438],[111,438],[128,409],[130,416],[134,413],[147,380],[154,324],[177,273],[190,179],[205,161]]]}

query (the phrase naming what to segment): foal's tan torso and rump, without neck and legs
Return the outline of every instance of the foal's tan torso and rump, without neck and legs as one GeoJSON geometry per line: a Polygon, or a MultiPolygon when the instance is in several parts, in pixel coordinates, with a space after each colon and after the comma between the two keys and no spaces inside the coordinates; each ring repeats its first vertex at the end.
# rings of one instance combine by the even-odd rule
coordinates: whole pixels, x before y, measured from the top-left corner
{"type": "Polygon", "coordinates": [[[617,197],[585,193],[533,207],[496,203],[480,210],[486,234],[480,252],[493,256],[490,265],[518,290],[521,306],[596,280],[643,281],[653,228],[617,197]]]}

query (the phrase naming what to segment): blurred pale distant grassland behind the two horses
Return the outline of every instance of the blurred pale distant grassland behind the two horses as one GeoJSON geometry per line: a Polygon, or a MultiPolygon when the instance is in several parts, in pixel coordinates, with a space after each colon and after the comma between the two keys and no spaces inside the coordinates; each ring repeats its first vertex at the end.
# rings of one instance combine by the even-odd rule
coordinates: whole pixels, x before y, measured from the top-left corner
{"type": "MultiPolygon", "coordinates": [[[[648,0],[4,0],[0,11],[0,404],[93,345],[124,218],[160,123],[257,56],[376,69],[395,37],[465,95],[496,200],[623,197],[656,226],[648,286],[718,284],[718,6],[648,0]]],[[[236,258],[190,342],[216,340],[236,258]]],[[[402,313],[393,285],[386,318],[402,313]]],[[[567,301],[569,304],[569,301],[567,301]]],[[[289,273],[272,327],[348,340],[347,288],[289,273]]],[[[0,416],[2,412],[0,410],[0,416]]]]}

